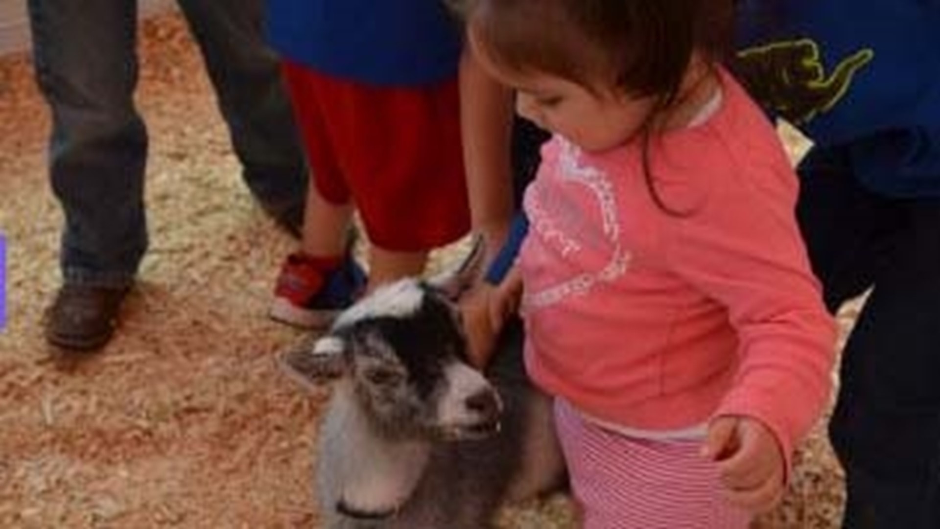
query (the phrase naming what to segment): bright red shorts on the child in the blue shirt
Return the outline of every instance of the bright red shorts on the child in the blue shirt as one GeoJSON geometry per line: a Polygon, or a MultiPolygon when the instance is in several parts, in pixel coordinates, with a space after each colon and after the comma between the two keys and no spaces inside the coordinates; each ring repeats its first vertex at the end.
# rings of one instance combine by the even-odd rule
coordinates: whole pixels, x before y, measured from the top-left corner
{"type": "Polygon", "coordinates": [[[456,79],[370,87],[282,68],[313,183],[332,203],[352,200],[373,244],[430,250],[469,230],[456,79]]]}

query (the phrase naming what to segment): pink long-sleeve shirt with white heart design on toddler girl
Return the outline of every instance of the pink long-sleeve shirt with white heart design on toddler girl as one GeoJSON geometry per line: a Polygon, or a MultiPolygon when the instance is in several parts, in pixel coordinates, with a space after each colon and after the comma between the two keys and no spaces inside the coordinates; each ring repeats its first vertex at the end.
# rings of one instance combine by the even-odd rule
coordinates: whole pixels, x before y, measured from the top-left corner
{"type": "Polygon", "coordinates": [[[784,454],[820,416],[835,325],[794,218],[772,125],[723,75],[708,120],[588,153],[556,136],[525,194],[525,361],[603,422],[677,430],[754,417],[784,454]]]}

